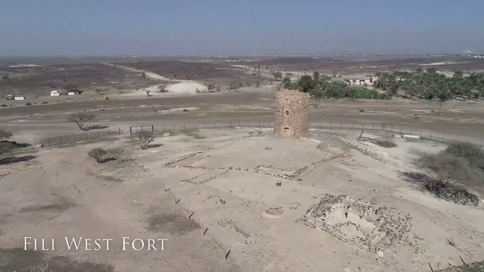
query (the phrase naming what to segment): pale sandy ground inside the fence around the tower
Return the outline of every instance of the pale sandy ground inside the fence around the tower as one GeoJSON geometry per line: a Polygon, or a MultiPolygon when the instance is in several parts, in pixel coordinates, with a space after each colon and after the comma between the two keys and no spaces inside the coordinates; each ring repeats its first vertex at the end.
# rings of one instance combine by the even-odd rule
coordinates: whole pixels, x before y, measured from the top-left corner
{"type": "Polygon", "coordinates": [[[397,148],[385,149],[356,141],[357,134],[312,129],[306,139],[288,140],[273,138],[272,129],[187,130],[157,137],[143,151],[120,137],[3,163],[0,244],[7,250],[0,254],[12,265],[6,271],[22,260],[26,270],[48,263],[53,271],[421,272],[428,263],[460,265],[459,255],[484,258],[482,210],[439,200],[401,177],[419,170],[411,164],[417,151],[444,145],[399,139],[397,148]],[[96,164],[86,155],[112,146],[127,147],[123,162],[96,164]],[[407,214],[398,223],[405,231],[388,249],[368,251],[306,226],[301,218],[324,194],[407,214]],[[23,237],[55,239],[56,250],[20,254],[13,248],[23,248],[23,237]],[[75,251],[63,237],[113,242],[109,251],[75,251]],[[168,240],[164,251],[123,251],[122,237],[168,240]]]}

